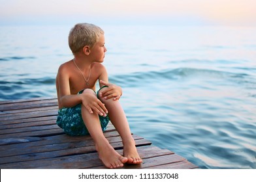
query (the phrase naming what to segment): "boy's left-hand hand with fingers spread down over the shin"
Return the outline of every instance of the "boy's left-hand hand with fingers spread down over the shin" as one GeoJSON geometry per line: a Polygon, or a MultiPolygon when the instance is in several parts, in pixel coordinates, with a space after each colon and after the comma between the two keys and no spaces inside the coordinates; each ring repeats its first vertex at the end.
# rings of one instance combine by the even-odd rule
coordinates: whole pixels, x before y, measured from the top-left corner
{"type": "Polygon", "coordinates": [[[88,109],[89,113],[97,112],[99,115],[106,117],[106,114],[108,114],[108,110],[106,109],[105,105],[97,99],[92,94],[88,94],[86,92],[83,92],[80,94],[82,96],[82,104],[86,109],[88,109]]]}

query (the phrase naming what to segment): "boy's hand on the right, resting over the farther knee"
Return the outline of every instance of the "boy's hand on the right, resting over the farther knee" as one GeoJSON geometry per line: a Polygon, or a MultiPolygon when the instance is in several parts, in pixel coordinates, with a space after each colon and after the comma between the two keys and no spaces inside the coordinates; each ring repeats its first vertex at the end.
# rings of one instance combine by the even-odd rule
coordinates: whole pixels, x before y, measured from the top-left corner
{"type": "Polygon", "coordinates": [[[122,90],[120,86],[114,85],[112,83],[106,83],[104,81],[100,81],[102,85],[108,86],[101,92],[100,97],[104,99],[111,99],[113,98],[114,101],[121,98],[122,90]]]}

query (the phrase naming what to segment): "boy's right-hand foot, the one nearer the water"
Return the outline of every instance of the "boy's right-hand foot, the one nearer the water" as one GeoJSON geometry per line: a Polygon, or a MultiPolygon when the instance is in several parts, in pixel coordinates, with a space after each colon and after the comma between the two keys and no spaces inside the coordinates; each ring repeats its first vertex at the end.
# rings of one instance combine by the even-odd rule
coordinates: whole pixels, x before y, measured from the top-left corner
{"type": "Polygon", "coordinates": [[[123,156],[127,157],[127,164],[140,164],[142,162],[134,141],[123,144],[123,156]]]}

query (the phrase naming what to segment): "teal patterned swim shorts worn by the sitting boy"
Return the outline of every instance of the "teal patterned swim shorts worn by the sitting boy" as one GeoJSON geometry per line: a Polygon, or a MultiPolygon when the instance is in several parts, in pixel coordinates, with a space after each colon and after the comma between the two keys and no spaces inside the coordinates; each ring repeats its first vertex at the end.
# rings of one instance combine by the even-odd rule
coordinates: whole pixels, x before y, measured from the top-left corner
{"type": "MultiPolygon", "coordinates": [[[[78,94],[82,94],[83,91],[84,90],[81,90],[78,94]]],[[[99,91],[97,92],[97,96],[98,93],[99,91]]],[[[104,117],[99,115],[99,122],[101,123],[102,130],[105,131],[110,120],[108,116],[104,117]]],[[[63,107],[59,109],[56,123],[67,135],[89,135],[88,129],[82,119],[81,104],[74,107],[63,107]]]]}

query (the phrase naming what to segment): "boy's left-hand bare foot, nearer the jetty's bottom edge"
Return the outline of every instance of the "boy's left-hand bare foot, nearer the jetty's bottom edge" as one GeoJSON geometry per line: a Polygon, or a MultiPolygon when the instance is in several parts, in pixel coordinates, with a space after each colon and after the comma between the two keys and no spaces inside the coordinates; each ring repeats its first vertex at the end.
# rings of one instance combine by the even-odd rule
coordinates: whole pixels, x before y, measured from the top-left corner
{"type": "Polygon", "coordinates": [[[97,147],[99,159],[107,168],[121,168],[128,161],[127,157],[121,156],[110,144],[97,147]]]}

